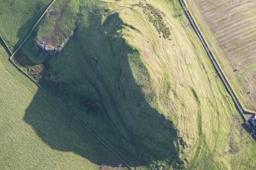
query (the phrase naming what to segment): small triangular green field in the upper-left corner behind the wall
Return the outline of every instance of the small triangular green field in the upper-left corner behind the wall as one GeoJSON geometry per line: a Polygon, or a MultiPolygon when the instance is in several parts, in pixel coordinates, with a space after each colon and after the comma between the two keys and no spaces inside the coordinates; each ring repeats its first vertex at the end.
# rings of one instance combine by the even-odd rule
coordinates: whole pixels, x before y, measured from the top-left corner
{"type": "Polygon", "coordinates": [[[0,34],[11,50],[15,50],[20,45],[50,2],[50,0],[1,2],[0,34]]]}

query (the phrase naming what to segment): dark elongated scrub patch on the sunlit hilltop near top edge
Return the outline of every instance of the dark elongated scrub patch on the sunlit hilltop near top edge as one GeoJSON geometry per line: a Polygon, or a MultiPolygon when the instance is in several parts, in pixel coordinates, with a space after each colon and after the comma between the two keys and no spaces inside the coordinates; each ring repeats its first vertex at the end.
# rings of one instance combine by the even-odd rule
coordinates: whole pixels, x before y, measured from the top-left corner
{"type": "Polygon", "coordinates": [[[168,39],[170,37],[170,28],[164,22],[161,12],[147,2],[139,2],[138,6],[142,8],[144,14],[147,15],[148,21],[154,25],[157,32],[161,34],[164,39],[168,39]]]}

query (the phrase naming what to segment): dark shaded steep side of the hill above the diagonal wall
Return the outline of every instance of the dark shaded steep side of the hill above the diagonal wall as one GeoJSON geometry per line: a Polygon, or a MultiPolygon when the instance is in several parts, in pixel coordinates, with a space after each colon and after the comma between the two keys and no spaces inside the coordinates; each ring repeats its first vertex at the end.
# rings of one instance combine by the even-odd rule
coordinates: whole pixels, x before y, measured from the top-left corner
{"type": "MultiPolygon", "coordinates": [[[[35,50],[38,40],[54,43],[59,38],[54,34],[55,29],[51,32],[44,28],[48,20],[58,15],[48,14],[37,30],[37,37],[31,40],[34,49],[21,52],[16,61],[23,63],[32,76],[41,75],[34,78],[104,140],[121,148],[118,152],[135,156],[138,165],[153,160],[180,164],[177,130],[172,120],[148,103],[156,100],[151,75],[141,52],[122,33],[141,30],[125,24],[118,12],[110,12],[108,8],[81,2],[76,27],[70,29],[72,37],[60,53],[50,55],[51,49],[35,50]],[[26,57],[22,56],[31,57],[32,62],[24,61],[26,57]],[[42,60],[42,64],[33,64],[42,60]],[[31,69],[37,67],[40,71],[31,69]]],[[[56,20],[55,24],[61,27],[62,23],[56,20]]]]}

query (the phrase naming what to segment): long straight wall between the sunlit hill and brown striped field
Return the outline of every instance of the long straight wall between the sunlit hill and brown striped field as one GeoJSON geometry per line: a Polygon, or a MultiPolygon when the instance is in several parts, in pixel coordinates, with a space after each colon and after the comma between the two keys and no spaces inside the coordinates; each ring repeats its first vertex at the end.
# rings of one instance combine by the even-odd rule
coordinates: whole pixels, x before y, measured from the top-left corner
{"type": "Polygon", "coordinates": [[[245,114],[255,114],[255,113],[245,111],[245,109],[242,107],[241,102],[238,100],[238,98],[235,95],[235,92],[233,91],[232,87],[229,85],[228,80],[225,78],[225,75],[222,72],[222,69],[219,66],[219,63],[215,59],[215,56],[212,54],[211,50],[209,50],[209,46],[206,43],[206,40],[204,39],[203,34],[201,34],[201,31],[199,30],[199,27],[197,27],[196,22],[193,20],[193,17],[190,14],[190,11],[188,11],[188,8],[186,7],[186,2],[184,2],[184,0],[179,0],[179,2],[183,8],[183,11],[186,14],[186,17],[190,21],[190,24],[192,25],[193,29],[195,30],[197,36],[199,37],[199,40],[203,44],[203,47],[205,48],[206,53],[209,56],[209,59],[211,59],[212,64],[213,64],[216,72],[218,73],[220,79],[222,80],[223,85],[228,90],[229,95],[231,95],[232,100],[234,101],[235,107],[237,107],[239,113],[241,114],[241,117],[243,117],[243,119],[246,120],[245,114]]]}

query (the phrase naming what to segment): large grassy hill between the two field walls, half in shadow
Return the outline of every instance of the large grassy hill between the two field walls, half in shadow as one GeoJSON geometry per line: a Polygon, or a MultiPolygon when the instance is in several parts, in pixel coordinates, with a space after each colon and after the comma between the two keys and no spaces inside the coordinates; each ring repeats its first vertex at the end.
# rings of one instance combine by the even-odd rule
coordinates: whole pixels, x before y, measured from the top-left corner
{"type": "Polygon", "coordinates": [[[15,61],[134,167],[255,168],[254,142],[177,0],[58,0],[15,61]]]}

